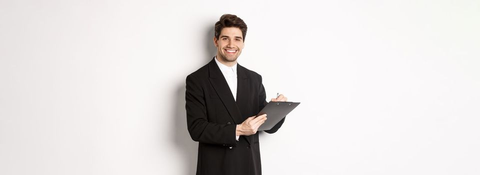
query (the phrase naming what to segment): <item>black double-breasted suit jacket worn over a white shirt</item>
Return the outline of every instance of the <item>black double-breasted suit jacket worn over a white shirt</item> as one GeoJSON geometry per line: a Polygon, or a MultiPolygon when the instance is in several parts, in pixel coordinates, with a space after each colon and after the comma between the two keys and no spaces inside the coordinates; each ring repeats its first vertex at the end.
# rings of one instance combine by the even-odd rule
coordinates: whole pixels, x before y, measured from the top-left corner
{"type": "Polygon", "coordinates": [[[188,131],[199,142],[197,174],[261,174],[258,132],[236,141],[235,129],[267,104],[262,76],[237,64],[235,101],[214,59],[186,78],[188,131]]]}

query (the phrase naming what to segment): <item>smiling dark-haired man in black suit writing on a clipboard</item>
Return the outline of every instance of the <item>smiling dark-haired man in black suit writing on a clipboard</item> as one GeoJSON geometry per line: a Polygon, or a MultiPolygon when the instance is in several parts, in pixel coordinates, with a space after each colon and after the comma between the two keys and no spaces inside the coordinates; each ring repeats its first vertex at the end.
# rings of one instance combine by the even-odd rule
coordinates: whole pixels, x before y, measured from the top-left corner
{"type": "MultiPolygon", "coordinates": [[[[258,127],[267,115],[262,77],[237,63],[247,25],[232,14],[215,23],[216,56],[186,78],[190,136],[198,141],[198,174],[261,174],[258,127]]],[[[286,101],[279,95],[272,101],[286,101]]],[[[268,133],[276,132],[285,118],[268,133]]]]}

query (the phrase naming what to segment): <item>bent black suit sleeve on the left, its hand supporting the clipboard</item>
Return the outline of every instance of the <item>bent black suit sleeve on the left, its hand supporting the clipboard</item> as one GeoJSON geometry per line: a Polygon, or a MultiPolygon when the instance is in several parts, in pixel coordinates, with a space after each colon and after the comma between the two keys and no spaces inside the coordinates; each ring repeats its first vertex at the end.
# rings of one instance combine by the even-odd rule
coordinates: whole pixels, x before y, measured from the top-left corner
{"type": "Polygon", "coordinates": [[[187,127],[194,141],[235,146],[236,124],[218,124],[209,122],[205,96],[200,82],[194,75],[186,78],[185,109],[187,127]]]}

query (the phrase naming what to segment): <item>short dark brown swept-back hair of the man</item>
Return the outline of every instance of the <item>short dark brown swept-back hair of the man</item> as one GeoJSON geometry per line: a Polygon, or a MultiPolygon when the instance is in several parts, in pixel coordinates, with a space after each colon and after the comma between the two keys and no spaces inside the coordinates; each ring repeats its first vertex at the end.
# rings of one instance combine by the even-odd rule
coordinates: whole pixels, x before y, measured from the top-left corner
{"type": "Polygon", "coordinates": [[[245,41],[245,35],[247,35],[247,24],[237,15],[223,14],[220,20],[215,23],[215,37],[220,37],[220,32],[224,27],[237,27],[242,30],[243,40],[245,41]]]}

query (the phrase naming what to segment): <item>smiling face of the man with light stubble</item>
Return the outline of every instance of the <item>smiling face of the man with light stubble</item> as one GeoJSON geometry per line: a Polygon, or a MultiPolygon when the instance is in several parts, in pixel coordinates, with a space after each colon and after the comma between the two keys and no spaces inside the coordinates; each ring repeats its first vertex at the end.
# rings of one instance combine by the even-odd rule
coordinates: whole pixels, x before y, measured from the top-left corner
{"type": "Polygon", "coordinates": [[[244,46],[242,30],[237,27],[224,27],[218,39],[213,37],[213,42],[217,47],[219,61],[235,62],[244,46]]]}

